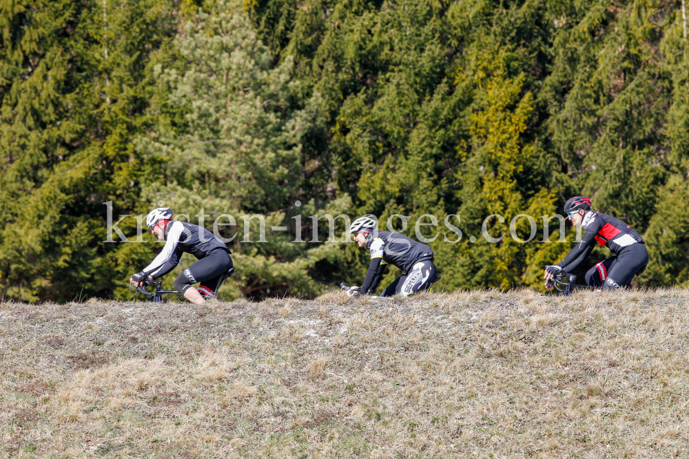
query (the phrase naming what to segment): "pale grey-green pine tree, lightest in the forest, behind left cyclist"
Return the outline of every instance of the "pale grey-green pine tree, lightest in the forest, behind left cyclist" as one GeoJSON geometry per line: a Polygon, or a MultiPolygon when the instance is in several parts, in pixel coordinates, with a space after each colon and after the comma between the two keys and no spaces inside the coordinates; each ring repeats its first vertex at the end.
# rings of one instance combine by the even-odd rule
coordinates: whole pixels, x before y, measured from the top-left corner
{"type": "MultiPolygon", "coordinates": [[[[160,178],[141,193],[148,209],[163,201],[177,213],[191,215],[192,222],[203,211],[210,230],[223,214],[236,220],[265,215],[265,226],[271,228],[294,227],[291,217],[298,212],[316,213],[313,202],[301,209],[294,203],[307,169],[302,145],[318,121],[320,97],[313,94],[294,107],[300,82],[293,78],[291,59],[272,65],[247,14],[233,2],[198,12],[173,46],[177,65],[157,64],[153,70],[158,82],[150,110],[158,114],[154,129],[134,141],[142,158],[163,162],[160,178]]],[[[343,195],[321,212],[338,215],[348,204],[343,195]]],[[[232,231],[242,233],[241,223],[232,231]]],[[[256,241],[258,220],[251,224],[256,241]]],[[[234,238],[237,275],[225,286],[233,292],[228,295],[311,296],[322,290],[312,275],[320,261],[333,256],[337,244],[291,244],[293,238],[270,233],[267,242],[256,244],[242,244],[241,235],[234,238]]]]}

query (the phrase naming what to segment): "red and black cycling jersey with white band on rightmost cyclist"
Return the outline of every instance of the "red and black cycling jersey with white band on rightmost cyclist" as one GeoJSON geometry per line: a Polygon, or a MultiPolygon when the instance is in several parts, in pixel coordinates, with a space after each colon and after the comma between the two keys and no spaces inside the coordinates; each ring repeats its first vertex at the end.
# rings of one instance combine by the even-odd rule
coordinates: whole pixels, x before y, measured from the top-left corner
{"type": "Polygon", "coordinates": [[[644,239],[634,228],[604,213],[586,212],[582,228],[586,229],[582,242],[557,264],[568,273],[584,261],[596,242],[609,248],[615,255],[619,255],[625,247],[632,244],[644,244],[644,239]]]}

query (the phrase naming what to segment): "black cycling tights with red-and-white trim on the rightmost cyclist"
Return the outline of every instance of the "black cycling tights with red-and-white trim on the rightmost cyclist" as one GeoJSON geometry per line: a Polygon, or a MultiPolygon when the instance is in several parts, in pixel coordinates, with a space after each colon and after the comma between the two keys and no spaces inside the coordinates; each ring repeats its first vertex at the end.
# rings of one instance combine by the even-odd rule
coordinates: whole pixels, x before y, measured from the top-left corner
{"type": "Polygon", "coordinates": [[[626,246],[617,255],[604,259],[586,273],[586,284],[607,290],[627,288],[635,275],[648,264],[648,250],[644,244],[626,246]]]}

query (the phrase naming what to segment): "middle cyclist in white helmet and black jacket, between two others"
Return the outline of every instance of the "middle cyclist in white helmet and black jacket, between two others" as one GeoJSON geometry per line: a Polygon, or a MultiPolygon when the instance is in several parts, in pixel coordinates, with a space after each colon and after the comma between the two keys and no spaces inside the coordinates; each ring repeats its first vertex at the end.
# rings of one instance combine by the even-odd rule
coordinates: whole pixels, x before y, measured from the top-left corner
{"type": "Polygon", "coordinates": [[[361,287],[347,288],[347,295],[366,295],[375,291],[388,263],[402,269],[404,274],[395,279],[380,296],[400,294],[408,297],[429,290],[438,275],[433,264],[433,250],[400,233],[378,231],[376,224],[375,215],[364,215],[354,220],[349,227],[349,233],[354,235],[357,244],[371,251],[371,263],[364,277],[364,284],[361,287]]]}

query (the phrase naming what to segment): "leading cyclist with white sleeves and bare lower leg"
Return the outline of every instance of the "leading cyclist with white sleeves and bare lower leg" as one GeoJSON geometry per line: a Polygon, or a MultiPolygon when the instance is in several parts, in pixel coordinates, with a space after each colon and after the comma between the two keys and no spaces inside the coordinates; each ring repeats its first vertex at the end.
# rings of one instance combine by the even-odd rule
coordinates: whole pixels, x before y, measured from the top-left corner
{"type": "Polygon", "coordinates": [[[174,287],[192,303],[200,304],[205,298],[216,297],[223,275],[232,268],[229,248],[206,228],[187,222],[173,222],[169,207],[154,209],[146,217],[146,225],[165,246],[152,263],[132,275],[134,286],[144,286],[146,279],[163,277],[179,263],[182,253],[191,253],[198,259],[174,281],[174,287]],[[200,282],[198,290],[189,288],[200,282]]]}

